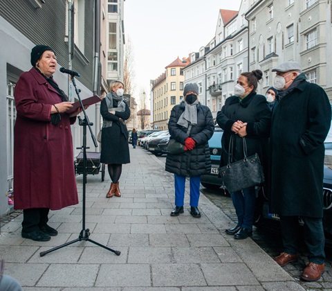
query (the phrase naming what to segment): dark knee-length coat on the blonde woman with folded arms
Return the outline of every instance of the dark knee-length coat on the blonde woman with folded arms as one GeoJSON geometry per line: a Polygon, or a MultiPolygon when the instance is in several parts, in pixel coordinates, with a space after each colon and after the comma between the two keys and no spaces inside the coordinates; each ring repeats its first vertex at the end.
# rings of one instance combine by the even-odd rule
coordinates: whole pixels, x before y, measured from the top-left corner
{"type": "MultiPolygon", "coordinates": [[[[109,113],[106,99],[100,105],[100,114],[104,120],[113,121],[111,127],[102,127],[102,145],[100,161],[104,164],[128,164],[130,163],[128,130],[123,121],[130,116],[130,109],[125,103],[124,112],[109,113]],[[120,121],[122,118],[123,121],[120,121]]],[[[118,101],[113,100],[113,108],[118,107],[118,101]]]]}

